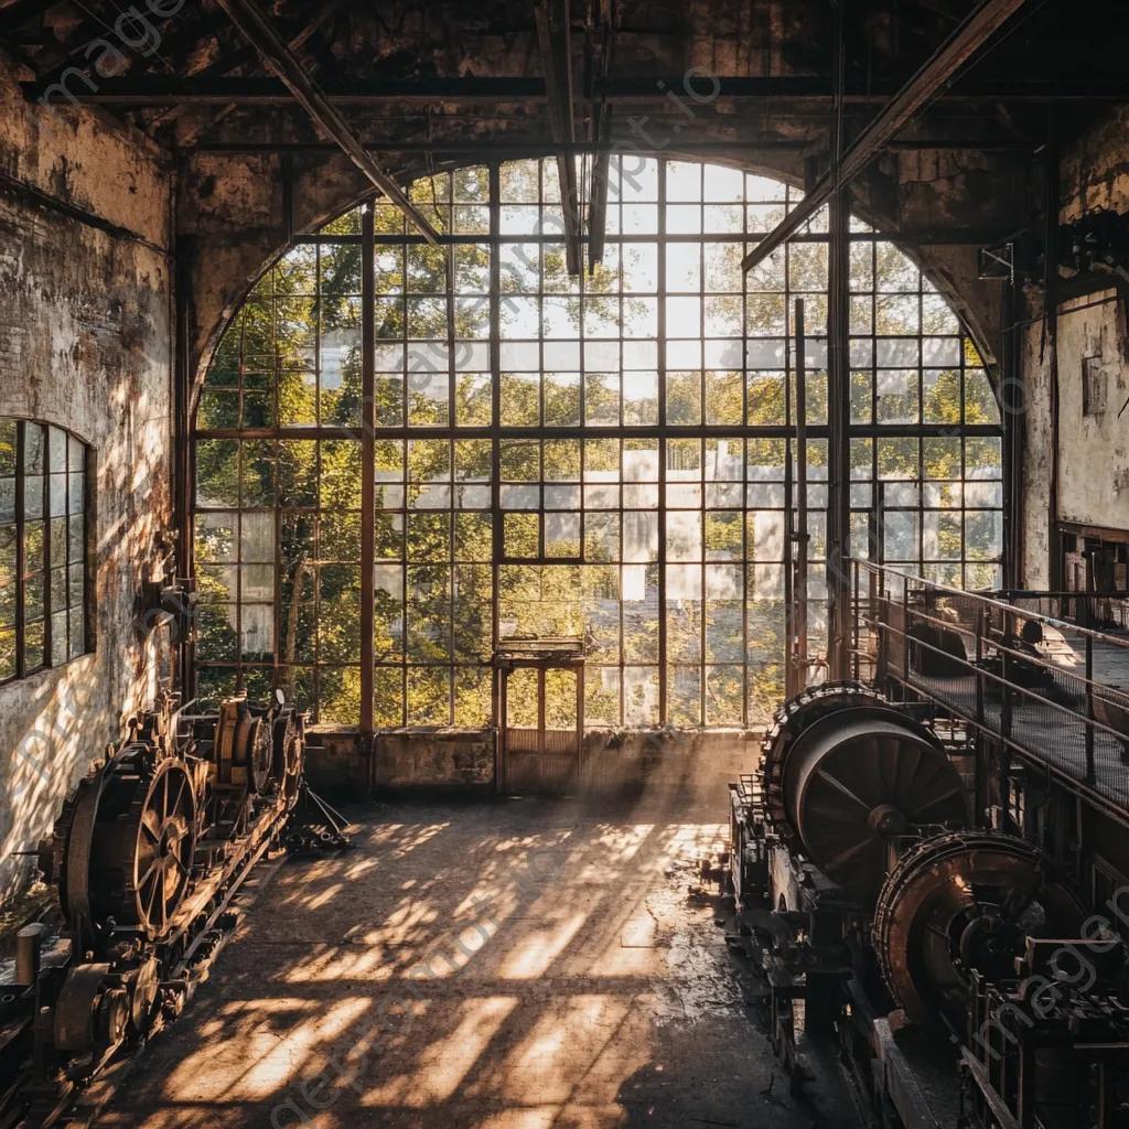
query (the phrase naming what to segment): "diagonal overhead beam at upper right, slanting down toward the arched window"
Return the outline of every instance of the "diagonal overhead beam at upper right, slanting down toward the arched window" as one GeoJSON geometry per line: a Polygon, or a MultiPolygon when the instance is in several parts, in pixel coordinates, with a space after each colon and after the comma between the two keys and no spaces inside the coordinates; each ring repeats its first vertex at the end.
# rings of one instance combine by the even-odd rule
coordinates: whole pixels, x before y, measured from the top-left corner
{"type": "Polygon", "coordinates": [[[1023,7],[1025,0],[983,0],[859,134],[838,161],[815,183],[784,222],[744,259],[752,270],[795,235],[831,198],[870,163],[953,80],[956,72],[1023,7]]]}

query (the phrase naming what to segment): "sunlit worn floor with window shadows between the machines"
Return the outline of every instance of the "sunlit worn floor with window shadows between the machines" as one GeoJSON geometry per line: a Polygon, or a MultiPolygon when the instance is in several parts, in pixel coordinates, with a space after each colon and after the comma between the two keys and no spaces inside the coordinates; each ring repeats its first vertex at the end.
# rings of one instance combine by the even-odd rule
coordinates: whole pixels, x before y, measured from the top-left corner
{"type": "Polygon", "coordinates": [[[856,1129],[834,1074],[789,1096],[763,987],[688,894],[724,803],[355,809],[356,849],[281,866],[98,1124],[856,1129]]]}

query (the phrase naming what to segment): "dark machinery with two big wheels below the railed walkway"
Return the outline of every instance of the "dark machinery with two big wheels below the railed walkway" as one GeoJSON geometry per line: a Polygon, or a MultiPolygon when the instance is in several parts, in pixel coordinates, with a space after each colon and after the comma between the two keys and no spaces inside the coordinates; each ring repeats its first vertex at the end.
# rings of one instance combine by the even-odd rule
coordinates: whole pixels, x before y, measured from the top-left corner
{"type": "Polygon", "coordinates": [[[1038,846],[974,825],[969,769],[960,742],[856,683],[813,688],[777,712],[759,772],[730,785],[725,865],[709,867],[736,895],[765,972],[773,1045],[795,1085],[797,1010],[811,1039],[834,1033],[893,1122],[944,1123],[936,1095],[947,1088],[964,1095],[952,1109],[962,1126],[1112,1129],[1129,1120],[1118,1089],[1129,1083],[1124,948],[1111,936],[1101,977],[1064,983],[1053,1006],[1032,1003],[1051,949],[1094,948],[1092,930],[1070,939],[1086,931],[1086,905],[1038,846]],[[919,1059],[934,1049],[928,1069],[948,1073],[939,1091],[905,1083],[917,1067],[892,1027],[917,1033],[919,1059]],[[983,1049],[984,1027],[1006,1031],[995,1041],[1006,1069],[990,1039],[983,1049]],[[1039,1064],[1061,1076],[1036,1086],[1039,1064]]]}

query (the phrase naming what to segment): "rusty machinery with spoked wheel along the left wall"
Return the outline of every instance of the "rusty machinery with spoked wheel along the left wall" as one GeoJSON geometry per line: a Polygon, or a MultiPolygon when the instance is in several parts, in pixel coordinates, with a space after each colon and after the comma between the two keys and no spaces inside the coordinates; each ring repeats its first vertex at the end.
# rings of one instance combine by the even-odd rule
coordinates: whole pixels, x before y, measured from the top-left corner
{"type": "Polygon", "coordinates": [[[292,706],[189,716],[166,697],[79,781],[38,848],[58,905],[0,984],[0,1126],[53,1123],[180,1012],[251,868],[306,833],[305,739],[292,706]]]}

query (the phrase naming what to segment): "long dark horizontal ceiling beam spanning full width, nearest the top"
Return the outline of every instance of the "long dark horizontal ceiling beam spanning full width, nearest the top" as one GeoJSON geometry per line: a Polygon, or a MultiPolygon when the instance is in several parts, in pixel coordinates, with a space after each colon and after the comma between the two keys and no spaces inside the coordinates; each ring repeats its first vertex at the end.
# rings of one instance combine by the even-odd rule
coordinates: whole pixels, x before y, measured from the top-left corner
{"type": "MultiPolygon", "coordinates": [[[[1016,0],[1013,0],[1016,2],[1016,0]]],[[[682,89],[681,78],[611,78],[597,79],[595,94],[611,102],[667,102],[669,91],[682,89]],[[663,84],[659,86],[659,84],[663,84]]],[[[692,88],[709,95],[712,87],[692,88]]],[[[750,98],[823,104],[834,97],[828,79],[817,77],[719,78],[718,98],[750,98]]],[[[292,105],[295,97],[277,78],[201,78],[189,76],[139,76],[110,78],[90,90],[81,82],[71,82],[69,90],[50,89],[43,80],[21,84],[28,98],[106,105],[170,106],[186,104],[237,103],[240,106],[292,105]]],[[[848,89],[844,102],[850,106],[874,106],[889,103],[896,94],[892,87],[875,85],[870,90],[848,89]]],[[[523,103],[546,97],[542,78],[439,78],[439,79],[360,79],[321,84],[324,102],[334,105],[362,106],[388,103],[523,103]]],[[[681,95],[680,95],[681,97],[681,95]]],[[[934,99],[945,103],[1094,103],[1129,102],[1129,79],[1027,79],[994,78],[962,80],[953,89],[934,99]]]]}

